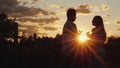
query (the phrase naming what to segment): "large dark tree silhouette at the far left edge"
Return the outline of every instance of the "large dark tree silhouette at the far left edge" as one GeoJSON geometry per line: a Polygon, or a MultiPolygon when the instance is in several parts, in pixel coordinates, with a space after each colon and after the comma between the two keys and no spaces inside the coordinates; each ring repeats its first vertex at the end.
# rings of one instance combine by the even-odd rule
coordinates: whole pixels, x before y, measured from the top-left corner
{"type": "Polygon", "coordinates": [[[18,23],[15,19],[8,19],[8,16],[3,12],[0,14],[0,42],[8,38],[14,39],[14,44],[18,43],[18,23]]]}

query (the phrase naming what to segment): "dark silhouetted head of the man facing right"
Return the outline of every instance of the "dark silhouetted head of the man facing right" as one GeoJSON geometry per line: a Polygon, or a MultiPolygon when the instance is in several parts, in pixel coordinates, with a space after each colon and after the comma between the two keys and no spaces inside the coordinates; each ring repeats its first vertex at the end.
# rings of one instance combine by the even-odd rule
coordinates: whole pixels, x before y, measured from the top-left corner
{"type": "Polygon", "coordinates": [[[67,19],[70,21],[75,21],[76,19],[76,10],[73,8],[70,8],[67,10],[67,19]]]}

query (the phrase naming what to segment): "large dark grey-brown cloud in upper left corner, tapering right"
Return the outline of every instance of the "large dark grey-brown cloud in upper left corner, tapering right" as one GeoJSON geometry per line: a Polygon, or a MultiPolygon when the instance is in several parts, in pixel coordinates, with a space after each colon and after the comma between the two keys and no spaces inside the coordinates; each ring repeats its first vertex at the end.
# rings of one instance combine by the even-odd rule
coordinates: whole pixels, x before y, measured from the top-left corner
{"type": "Polygon", "coordinates": [[[21,1],[18,2],[17,0],[0,0],[0,13],[6,12],[13,17],[35,16],[39,13],[42,15],[55,15],[54,12],[46,11],[41,8],[26,7],[24,5],[20,5],[20,2],[21,1]]]}

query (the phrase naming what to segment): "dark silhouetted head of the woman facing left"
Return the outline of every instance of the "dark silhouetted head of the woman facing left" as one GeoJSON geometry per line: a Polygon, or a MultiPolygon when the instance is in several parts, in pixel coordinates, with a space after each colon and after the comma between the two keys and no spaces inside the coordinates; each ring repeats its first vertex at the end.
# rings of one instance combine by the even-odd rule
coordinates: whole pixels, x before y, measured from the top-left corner
{"type": "Polygon", "coordinates": [[[103,19],[101,16],[95,16],[92,20],[92,25],[99,27],[103,26],[103,19]]]}

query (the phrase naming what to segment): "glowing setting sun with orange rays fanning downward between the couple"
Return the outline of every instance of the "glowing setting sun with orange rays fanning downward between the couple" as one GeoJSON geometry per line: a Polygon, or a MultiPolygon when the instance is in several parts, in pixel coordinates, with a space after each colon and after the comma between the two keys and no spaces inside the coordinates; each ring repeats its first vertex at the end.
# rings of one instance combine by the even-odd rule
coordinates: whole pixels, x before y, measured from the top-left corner
{"type": "MultiPolygon", "coordinates": [[[[67,49],[67,56],[72,55],[72,61],[73,62],[79,62],[84,65],[85,62],[89,62],[90,55],[93,55],[96,57],[96,59],[104,66],[106,66],[104,60],[101,58],[101,56],[95,51],[94,48],[96,48],[94,45],[94,41],[92,41],[86,33],[81,33],[77,37],[77,43],[73,42],[71,43],[70,49],[69,46],[65,48],[67,49]]],[[[66,57],[67,58],[67,57],[66,57]]],[[[107,67],[107,66],[106,66],[107,67]]]]}

